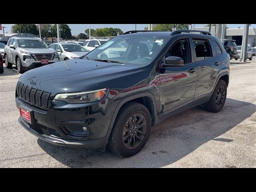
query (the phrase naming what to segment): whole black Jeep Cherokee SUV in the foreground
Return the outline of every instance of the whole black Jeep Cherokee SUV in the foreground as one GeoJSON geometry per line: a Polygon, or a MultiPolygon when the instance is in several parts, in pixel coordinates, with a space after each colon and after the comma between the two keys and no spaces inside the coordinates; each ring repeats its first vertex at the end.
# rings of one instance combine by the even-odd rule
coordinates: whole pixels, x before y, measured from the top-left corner
{"type": "Polygon", "coordinates": [[[52,144],[129,157],[165,118],[200,104],[219,112],[229,56],[208,32],[190,32],[130,31],[80,59],[25,72],[16,87],[20,124],[52,144]]]}

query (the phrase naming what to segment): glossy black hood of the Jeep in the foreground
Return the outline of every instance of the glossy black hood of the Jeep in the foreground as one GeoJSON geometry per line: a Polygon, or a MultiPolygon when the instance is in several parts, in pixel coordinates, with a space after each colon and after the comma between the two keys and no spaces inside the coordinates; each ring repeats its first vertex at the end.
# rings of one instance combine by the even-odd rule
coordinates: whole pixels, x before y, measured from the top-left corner
{"type": "MultiPolygon", "coordinates": [[[[29,70],[20,76],[19,81],[55,95],[64,92],[80,92],[87,90],[88,86],[90,90],[109,88],[116,83],[116,79],[134,75],[139,72],[140,68],[116,63],[72,59],[29,70]]],[[[132,78],[130,81],[133,81],[132,78]]]]}

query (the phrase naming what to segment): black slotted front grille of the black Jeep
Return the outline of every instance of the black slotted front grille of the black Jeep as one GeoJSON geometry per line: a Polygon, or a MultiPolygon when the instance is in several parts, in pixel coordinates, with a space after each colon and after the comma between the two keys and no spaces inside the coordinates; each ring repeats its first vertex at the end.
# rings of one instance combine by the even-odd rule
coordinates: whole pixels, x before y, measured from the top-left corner
{"type": "Polygon", "coordinates": [[[16,86],[17,94],[25,102],[30,103],[40,108],[47,109],[50,97],[50,92],[45,92],[28,85],[18,82],[16,86]]]}

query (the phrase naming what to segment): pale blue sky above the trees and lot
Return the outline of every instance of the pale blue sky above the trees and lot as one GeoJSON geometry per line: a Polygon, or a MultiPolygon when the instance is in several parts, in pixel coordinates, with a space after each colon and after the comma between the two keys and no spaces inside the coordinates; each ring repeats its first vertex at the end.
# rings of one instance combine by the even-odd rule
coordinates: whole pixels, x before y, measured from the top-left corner
{"type": "MultiPolygon", "coordinates": [[[[2,24],[2,26],[7,27],[7,28],[4,28],[4,32],[10,33],[12,25],[14,24],[2,24]]],[[[227,25],[228,25],[228,28],[244,27],[244,24],[227,24],[227,25]]],[[[68,24],[68,26],[71,28],[72,35],[84,33],[84,30],[89,28],[89,24],[68,24]]],[[[136,24],[136,30],[144,30],[144,27],[146,26],[147,24],[136,24]]],[[[135,24],[91,24],[91,29],[106,28],[106,27],[120,28],[123,32],[135,30],[135,24]]],[[[256,28],[256,24],[252,24],[250,28],[251,27],[256,28]]],[[[0,30],[0,34],[3,34],[2,30],[0,30]]]]}

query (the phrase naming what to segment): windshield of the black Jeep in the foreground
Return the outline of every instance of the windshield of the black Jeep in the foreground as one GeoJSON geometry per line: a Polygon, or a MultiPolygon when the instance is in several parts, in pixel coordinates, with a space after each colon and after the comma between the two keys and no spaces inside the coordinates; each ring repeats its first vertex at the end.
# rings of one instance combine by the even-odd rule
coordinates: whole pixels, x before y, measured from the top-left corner
{"type": "Polygon", "coordinates": [[[159,37],[118,36],[89,52],[87,58],[142,66],[157,56],[166,41],[159,37]]]}

